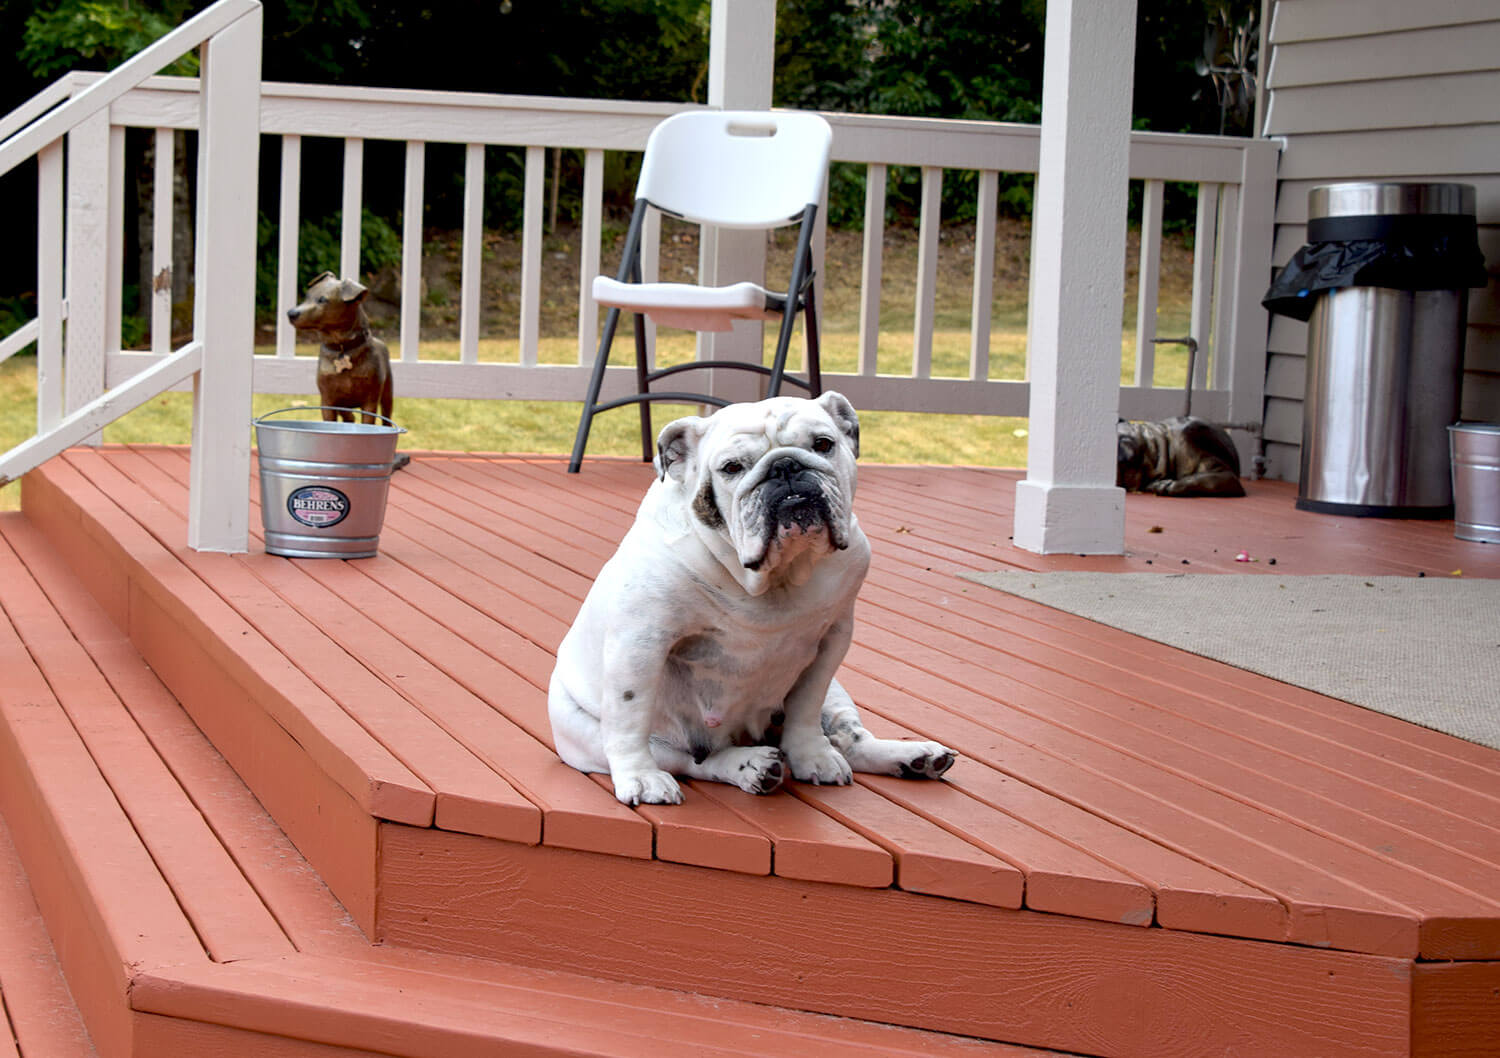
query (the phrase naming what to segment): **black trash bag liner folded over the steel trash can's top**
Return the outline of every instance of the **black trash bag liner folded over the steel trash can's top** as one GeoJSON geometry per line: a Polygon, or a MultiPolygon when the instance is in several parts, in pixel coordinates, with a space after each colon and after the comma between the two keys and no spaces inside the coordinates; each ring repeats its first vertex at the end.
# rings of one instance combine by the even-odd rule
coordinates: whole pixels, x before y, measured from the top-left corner
{"type": "Polygon", "coordinates": [[[1308,222],[1308,243],[1276,273],[1260,303],[1305,321],[1326,290],[1460,290],[1488,282],[1473,216],[1329,216],[1308,222]]]}

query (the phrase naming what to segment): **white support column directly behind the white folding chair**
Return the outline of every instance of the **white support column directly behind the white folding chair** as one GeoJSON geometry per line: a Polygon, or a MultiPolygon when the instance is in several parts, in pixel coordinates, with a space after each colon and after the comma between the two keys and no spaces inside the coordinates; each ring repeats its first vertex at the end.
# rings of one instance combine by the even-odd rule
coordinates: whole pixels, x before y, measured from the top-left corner
{"type": "MultiPolygon", "coordinates": [[[[708,24],[708,105],[768,110],[776,68],[776,0],[714,0],[708,24]]],[[[705,284],[765,282],[765,233],[704,231],[699,270],[705,284]]],[[[699,335],[702,360],[764,359],[765,324],[738,321],[726,333],[699,335]]],[[[759,380],[744,371],[714,372],[708,392],[728,401],[754,401],[759,380]]]]}

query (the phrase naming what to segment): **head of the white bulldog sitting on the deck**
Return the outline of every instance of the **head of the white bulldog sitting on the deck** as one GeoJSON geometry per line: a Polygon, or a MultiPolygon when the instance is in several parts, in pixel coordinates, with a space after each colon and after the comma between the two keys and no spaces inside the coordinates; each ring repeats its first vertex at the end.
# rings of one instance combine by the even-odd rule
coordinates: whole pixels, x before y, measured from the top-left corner
{"type": "Polygon", "coordinates": [[[828,392],[678,419],[657,440],[657,471],[735,561],[765,578],[804,552],[849,546],[858,455],[860,417],[828,392]]]}

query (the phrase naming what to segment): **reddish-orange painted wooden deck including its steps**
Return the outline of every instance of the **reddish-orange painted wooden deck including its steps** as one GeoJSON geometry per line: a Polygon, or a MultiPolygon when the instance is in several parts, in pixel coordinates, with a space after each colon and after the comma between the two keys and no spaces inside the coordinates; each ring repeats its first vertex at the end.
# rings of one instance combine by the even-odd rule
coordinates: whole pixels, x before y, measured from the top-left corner
{"type": "Polygon", "coordinates": [[[632,810],[546,683],[646,467],[418,456],[350,563],[188,551],[186,477],[74,450],[0,516],[0,908],[100,1055],[1494,1053],[1500,753],[956,576],[1500,576],[1450,522],[1252,483],[1042,558],[1016,474],[866,467],[842,678],[963,759],[632,810]]]}

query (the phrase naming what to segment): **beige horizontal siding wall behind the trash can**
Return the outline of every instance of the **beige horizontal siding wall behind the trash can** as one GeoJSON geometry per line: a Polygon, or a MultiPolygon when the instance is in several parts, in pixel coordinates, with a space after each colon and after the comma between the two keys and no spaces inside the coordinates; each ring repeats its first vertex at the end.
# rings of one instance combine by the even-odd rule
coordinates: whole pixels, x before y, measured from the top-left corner
{"type": "MultiPolygon", "coordinates": [[[[1276,0],[1264,134],[1284,140],[1274,263],[1306,237],[1308,189],[1454,180],[1478,189],[1490,287],[1470,291],[1462,414],[1500,422],[1500,0],[1276,0]]],[[[1296,480],[1306,324],[1272,317],[1266,458],[1296,480]]]]}

